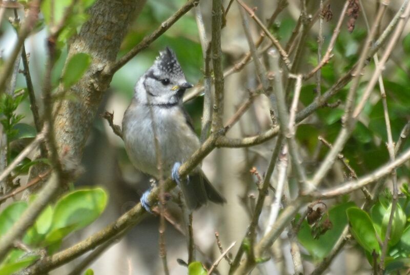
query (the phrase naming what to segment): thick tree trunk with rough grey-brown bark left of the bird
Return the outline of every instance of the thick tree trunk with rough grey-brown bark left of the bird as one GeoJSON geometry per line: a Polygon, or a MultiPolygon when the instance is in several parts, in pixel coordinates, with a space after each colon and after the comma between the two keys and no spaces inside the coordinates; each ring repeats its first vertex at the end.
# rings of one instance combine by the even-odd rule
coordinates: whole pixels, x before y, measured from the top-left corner
{"type": "MultiPolygon", "coordinates": [[[[113,73],[104,69],[115,62],[128,26],[145,3],[146,0],[98,0],[89,10],[89,20],[79,34],[71,38],[67,61],[83,52],[92,57],[92,62],[79,82],[68,91],[76,99],[70,96],[54,104],[54,134],[60,158],[64,155],[64,159],[80,163],[96,111],[112,80],[113,73]]],[[[61,84],[57,93],[62,92],[64,86],[61,84]]],[[[42,170],[33,167],[30,178],[35,178],[42,170]]],[[[36,189],[39,187],[37,185],[36,189]]]]}

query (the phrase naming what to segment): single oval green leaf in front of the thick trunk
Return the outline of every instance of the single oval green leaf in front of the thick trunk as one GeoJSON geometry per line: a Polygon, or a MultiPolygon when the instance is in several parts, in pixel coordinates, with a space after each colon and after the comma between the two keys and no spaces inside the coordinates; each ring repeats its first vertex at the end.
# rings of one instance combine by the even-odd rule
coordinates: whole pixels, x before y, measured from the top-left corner
{"type": "Polygon", "coordinates": [[[63,74],[64,87],[70,88],[78,82],[91,64],[91,56],[87,53],[76,53],[71,56],[63,74]]]}

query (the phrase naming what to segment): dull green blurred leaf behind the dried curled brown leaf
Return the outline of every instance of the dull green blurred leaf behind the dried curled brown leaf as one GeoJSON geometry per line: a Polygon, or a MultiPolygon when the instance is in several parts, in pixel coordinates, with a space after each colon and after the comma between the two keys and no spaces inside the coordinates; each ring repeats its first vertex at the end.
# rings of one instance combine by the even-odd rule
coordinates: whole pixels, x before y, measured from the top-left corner
{"type": "Polygon", "coordinates": [[[329,210],[329,219],[333,227],[321,235],[319,239],[314,239],[308,222],[303,221],[298,233],[298,240],[314,259],[322,260],[329,255],[347,225],[346,209],[354,205],[353,202],[346,202],[332,207],[329,210]]]}

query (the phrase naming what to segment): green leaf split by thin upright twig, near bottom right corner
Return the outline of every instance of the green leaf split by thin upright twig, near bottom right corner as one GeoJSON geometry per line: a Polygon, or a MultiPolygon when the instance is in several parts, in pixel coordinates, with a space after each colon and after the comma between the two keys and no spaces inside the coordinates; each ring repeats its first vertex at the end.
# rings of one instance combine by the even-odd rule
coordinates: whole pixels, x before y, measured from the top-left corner
{"type": "MultiPolygon", "coordinates": [[[[387,230],[387,225],[388,221],[390,219],[390,215],[392,212],[392,205],[390,205],[387,208],[386,213],[384,214],[383,221],[382,221],[382,226],[381,226],[381,238],[382,240],[385,239],[386,235],[386,230],[387,230]]],[[[393,246],[397,244],[400,241],[401,235],[403,233],[403,229],[406,225],[406,214],[404,211],[401,209],[401,206],[399,204],[396,205],[395,213],[393,216],[393,221],[392,221],[392,229],[390,232],[390,240],[388,241],[388,244],[390,246],[393,246]]]]}

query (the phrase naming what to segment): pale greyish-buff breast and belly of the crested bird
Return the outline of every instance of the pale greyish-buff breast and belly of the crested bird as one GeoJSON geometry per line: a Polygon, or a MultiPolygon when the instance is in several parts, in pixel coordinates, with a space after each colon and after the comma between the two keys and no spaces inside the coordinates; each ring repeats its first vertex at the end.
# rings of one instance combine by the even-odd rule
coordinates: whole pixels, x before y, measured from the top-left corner
{"type": "Polygon", "coordinates": [[[200,145],[178,106],[142,105],[131,108],[130,105],[124,114],[122,129],[133,165],[155,177],[159,174],[157,155],[160,156],[163,174],[169,176],[174,163],[185,162],[200,145]]]}

